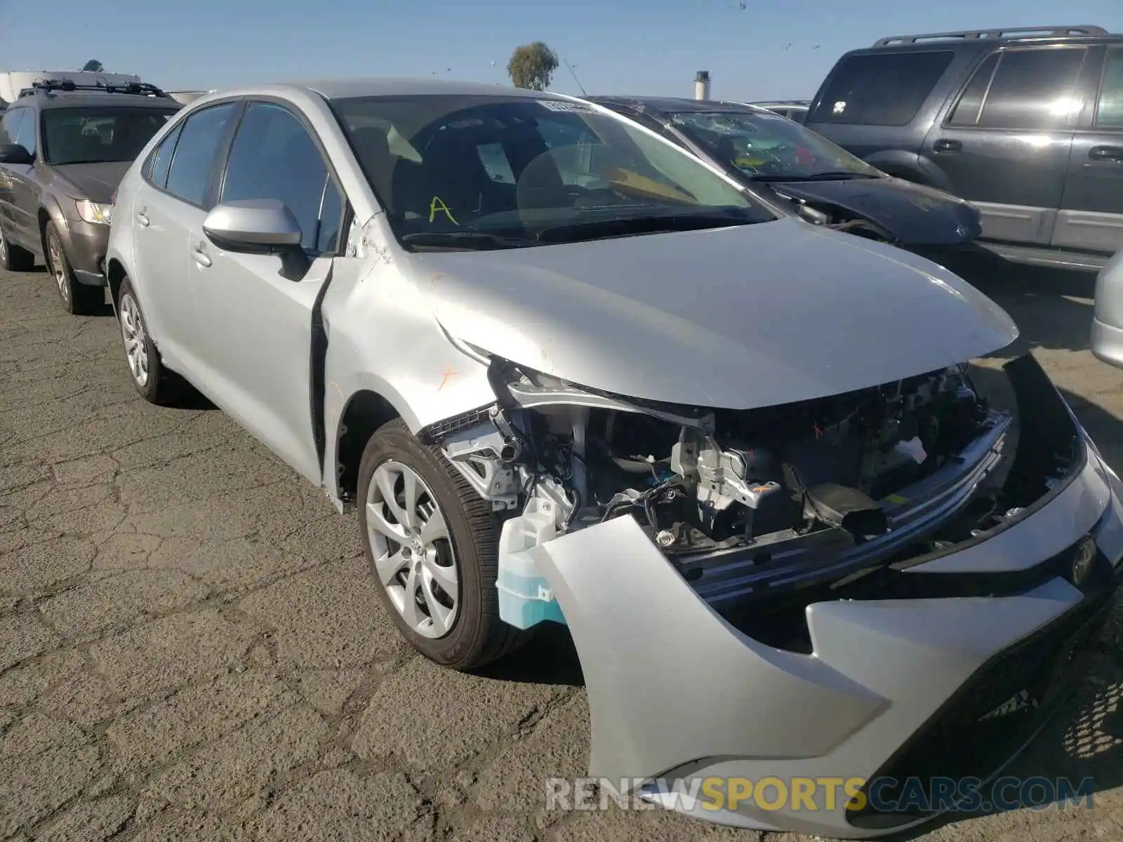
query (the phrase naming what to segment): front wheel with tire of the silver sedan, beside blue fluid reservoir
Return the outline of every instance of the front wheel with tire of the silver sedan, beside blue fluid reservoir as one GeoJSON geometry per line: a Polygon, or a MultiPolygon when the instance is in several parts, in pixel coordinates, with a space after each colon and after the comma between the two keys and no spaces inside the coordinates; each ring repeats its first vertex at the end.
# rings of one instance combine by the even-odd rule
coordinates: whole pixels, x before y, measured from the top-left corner
{"type": "MultiPolygon", "coordinates": [[[[394,624],[414,649],[441,666],[468,670],[501,658],[527,639],[524,632],[499,616],[499,521],[438,448],[419,442],[401,419],[389,421],[366,442],[358,491],[363,547],[375,586],[394,624]],[[411,472],[417,496],[413,512],[403,524],[386,503],[382,486],[392,485],[394,504],[404,512],[402,503],[411,472]],[[436,509],[422,518],[432,503],[436,509]],[[446,537],[426,543],[426,531],[438,514],[444,516],[446,537]],[[405,529],[409,523],[417,529],[413,541],[405,529]],[[404,536],[400,542],[387,538],[387,527],[404,536]],[[456,576],[450,577],[448,570],[456,576]],[[455,595],[439,587],[454,578],[455,595]],[[437,588],[427,585],[432,582],[437,582],[437,588]]],[[[431,532],[440,533],[439,529],[431,532]]]]}

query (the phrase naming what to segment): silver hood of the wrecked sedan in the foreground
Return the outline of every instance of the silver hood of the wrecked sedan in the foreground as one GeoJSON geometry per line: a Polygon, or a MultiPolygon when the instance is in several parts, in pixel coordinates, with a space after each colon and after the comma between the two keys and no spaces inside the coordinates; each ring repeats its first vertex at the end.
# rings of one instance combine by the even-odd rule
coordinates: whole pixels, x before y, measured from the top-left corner
{"type": "Polygon", "coordinates": [[[454,337],[652,401],[750,409],[997,350],[1017,328],[923,258],[782,219],[497,251],[410,255],[454,337]]]}

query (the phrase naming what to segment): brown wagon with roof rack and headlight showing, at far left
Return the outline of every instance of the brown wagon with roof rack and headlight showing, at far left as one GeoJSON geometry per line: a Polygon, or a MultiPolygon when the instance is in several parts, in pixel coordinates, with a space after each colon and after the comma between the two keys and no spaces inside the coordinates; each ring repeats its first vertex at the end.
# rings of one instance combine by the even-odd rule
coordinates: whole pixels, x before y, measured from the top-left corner
{"type": "Polygon", "coordinates": [[[100,308],[113,192],[181,108],[148,84],[21,91],[0,116],[0,267],[42,259],[69,312],[100,308]]]}

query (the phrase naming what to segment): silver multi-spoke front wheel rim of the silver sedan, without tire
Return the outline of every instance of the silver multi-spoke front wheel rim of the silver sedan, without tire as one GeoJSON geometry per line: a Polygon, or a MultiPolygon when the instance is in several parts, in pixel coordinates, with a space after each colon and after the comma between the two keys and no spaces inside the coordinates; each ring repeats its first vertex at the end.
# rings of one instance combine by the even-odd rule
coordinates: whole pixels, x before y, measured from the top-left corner
{"type": "Polygon", "coordinates": [[[367,488],[366,524],[391,603],[418,634],[447,634],[459,608],[460,578],[436,495],[408,465],[384,461],[367,488]]]}

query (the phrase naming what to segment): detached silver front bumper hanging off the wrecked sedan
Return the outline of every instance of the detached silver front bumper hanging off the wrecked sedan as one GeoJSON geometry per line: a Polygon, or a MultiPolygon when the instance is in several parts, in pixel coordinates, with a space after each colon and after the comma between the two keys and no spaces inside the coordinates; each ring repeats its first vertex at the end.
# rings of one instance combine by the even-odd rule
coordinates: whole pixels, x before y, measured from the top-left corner
{"type": "MultiPolygon", "coordinates": [[[[1040,727],[1110,605],[1123,569],[1121,494],[1089,447],[1072,482],[1039,511],[902,574],[1058,575],[1005,596],[818,602],[805,612],[811,655],[730,625],[630,518],[535,547],[581,657],[590,775],[686,790],[715,777],[989,777],[1040,727]],[[1089,536],[1098,573],[1077,587],[1060,571],[1089,536]],[[989,738],[993,749],[977,742],[989,738]]],[[[675,807],[721,824],[840,838],[931,817],[832,800],[814,809],[743,800],[730,811],[687,798],[675,807]]]]}

